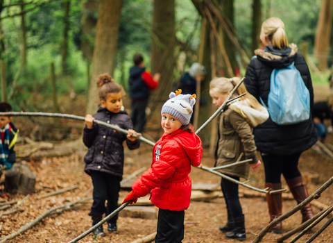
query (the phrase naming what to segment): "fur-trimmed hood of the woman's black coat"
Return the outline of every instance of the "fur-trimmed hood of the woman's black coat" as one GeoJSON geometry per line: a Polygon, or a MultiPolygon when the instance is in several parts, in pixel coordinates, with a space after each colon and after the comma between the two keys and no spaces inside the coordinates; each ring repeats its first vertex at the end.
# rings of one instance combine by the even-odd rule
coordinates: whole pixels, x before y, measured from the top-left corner
{"type": "Polygon", "coordinates": [[[258,60],[269,67],[282,69],[295,61],[297,51],[298,47],[296,44],[289,44],[289,47],[283,47],[282,49],[268,45],[264,49],[255,50],[255,55],[258,60]]]}

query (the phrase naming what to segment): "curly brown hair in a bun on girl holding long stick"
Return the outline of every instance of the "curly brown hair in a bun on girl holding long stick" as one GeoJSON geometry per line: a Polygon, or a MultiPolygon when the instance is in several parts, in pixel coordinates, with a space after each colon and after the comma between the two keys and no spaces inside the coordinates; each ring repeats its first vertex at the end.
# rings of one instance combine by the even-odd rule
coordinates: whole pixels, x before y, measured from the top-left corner
{"type": "Polygon", "coordinates": [[[99,87],[99,100],[105,101],[109,93],[118,93],[123,91],[123,87],[117,84],[110,74],[100,74],[96,79],[99,87]]]}

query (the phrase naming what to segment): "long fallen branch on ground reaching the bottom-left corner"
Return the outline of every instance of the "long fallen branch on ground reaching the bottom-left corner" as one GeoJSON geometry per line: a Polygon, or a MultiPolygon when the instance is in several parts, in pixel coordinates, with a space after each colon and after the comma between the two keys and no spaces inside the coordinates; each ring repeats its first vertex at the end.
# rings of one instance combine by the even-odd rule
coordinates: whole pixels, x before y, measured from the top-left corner
{"type": "Polygon", "coordinates": [[[35,220],[31,221],[30,223],[26,224],[25,226],[22,226],[21,228],[19,228],[18,231],[11,233],[10,235],[7,235],[6,237],[1,238],[0,243],[4,243],[7,240],[11,240],[15,237],[17,237],[17,235],[21,235],[23,232],[28,231],[29,228],[32,228],[33,226],[35,226],[35,224],[37,224],[39,221],[41,221],[42,219],[44,219],[45,217],[49,217],[50,215],[53,214],[53,212],[56,212],[59,209],[62,209],[62,212],[67,210],[67,208],[73,206],[75,203],[78,203],[80,200],[82,200],[89,192],[91,192],[92,187],[89,188],[89,190],[87,190],[87,192],[85,192],[85,194],[83,194],[83,196],[80,196],[79,199],[77,199],[76,201],[73,201],[71,203],[67,203],[64,205],[60,205],[54,208],[51,208],[49,210],[47,210],[46,212],[43,212],[42,215],[38,216],[37,218],[35,218],[35,220]]]}

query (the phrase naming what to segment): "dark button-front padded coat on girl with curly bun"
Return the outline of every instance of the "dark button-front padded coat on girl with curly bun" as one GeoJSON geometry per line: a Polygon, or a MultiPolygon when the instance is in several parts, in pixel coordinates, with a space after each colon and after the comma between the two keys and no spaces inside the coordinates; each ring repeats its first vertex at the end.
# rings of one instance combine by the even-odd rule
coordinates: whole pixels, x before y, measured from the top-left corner
{"type": "MultiPolygon", "coordinates": [[[[133,124],[126,111],[113,113],[106,108],[99,108],[92,115],[96,120],[118,125],[123,129],[133,129],[133,124]]],[[[139,140],[130,142],[126,135],[105,126],[94,124],[91,129],[85,126],[83,142],[89,148],[85,156],[85,172],[102,171],[114,176],[123,176],[123,141],[126,140],[128,149],[137,149],[139,140]]]]}

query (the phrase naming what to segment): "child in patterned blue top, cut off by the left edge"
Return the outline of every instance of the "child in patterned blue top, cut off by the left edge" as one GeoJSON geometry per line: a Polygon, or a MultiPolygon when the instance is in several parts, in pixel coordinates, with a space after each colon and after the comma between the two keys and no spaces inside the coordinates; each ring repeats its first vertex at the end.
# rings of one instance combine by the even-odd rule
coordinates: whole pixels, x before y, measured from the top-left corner
{"type": "MultiPolygon", "coordinates": [[[[11,112],[9,103],[0,103],[0,112],[11,112]]],[[[6,165],[6,169],[12,169],[12,164],[16,162],[14,145],[17,141],[19,130],[12,124],[12,117],[0,116],[0,167],[6,165]]],[[[0,175],[2,172],[0,172],[0,175]]]]}

